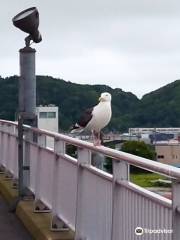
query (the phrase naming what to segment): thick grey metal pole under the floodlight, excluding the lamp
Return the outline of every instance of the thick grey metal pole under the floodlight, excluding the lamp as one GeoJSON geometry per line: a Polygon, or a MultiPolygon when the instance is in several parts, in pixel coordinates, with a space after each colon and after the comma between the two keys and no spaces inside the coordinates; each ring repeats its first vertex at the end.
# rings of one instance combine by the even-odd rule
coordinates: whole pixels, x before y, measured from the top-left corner
{"type": "MultiPolygon", "coordinates": [[[[23,124],[37,126],[36,118],[36,76],[35,52],[26,46],[20,49],[20,78],[19,78],[19,116],[18,116],[18,163],[19,163],[19,197],[26,195],[29,186],[30,162],[29,144],[23,144],[23,124]]],[[[26,136],[26,140],[29,136],[26,136]]]]}

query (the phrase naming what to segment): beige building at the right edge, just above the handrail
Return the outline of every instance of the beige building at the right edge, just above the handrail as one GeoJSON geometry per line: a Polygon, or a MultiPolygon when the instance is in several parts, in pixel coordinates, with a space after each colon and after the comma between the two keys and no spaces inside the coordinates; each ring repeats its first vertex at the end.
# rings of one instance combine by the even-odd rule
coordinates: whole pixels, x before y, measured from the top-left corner
{"type": "Polygon", "coordinates": [[[180,167],[180,142],[178,140],[156,142],[155,151],[158,162],[180,167]]]}

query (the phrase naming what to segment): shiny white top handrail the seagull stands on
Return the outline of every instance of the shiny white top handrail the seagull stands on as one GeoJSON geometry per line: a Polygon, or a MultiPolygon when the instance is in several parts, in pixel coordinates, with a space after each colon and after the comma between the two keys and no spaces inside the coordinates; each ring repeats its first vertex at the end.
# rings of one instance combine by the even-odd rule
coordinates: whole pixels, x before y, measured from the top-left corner
{"type": "MultiPolygon", "coordinates": [[[[0,123],[2,124],[12,124],[14,126],[17,126],[18,124],[15,122],[11,121],[5,121],[5,120],[0,120],[0,123]]],[[[44,134],[49,137],[53,137],[55,139],[62,140],[66,142],[67,144],[71,144],[74,146],[77,146],[79,148],[86,148],[91,151],[95,151],[98,153],[102,153],[105,156],[109,156],[113,159],[120,160],[120,161],[126,161],[128,164],[131,164],[133,166],[137,166],[149,171],[153,171],[165,176],[168,176],[170,178],[175,178],[175,179],[180,179],[180,169],[176,168],[171,165],[166,165],[163,163],[159,163],[156,161],[152,161],[143,157],[135,156],[129,153],[125,153],[122,151],[118,151],[115,149],[111,149],[108,147],[104,146],[94,146],[90,142],[86,142],[77,138],[72,138],[70,136],[64,135],[64,134],[59,134],[59,133],[54,133],[51,131],[47,131],[44,129],[38,129],[38,128],[33,128],[30,126],[25,125],[24,129],[26,130],[31,130],[33,132],[36,132],[38,134],[44,134]]]]}

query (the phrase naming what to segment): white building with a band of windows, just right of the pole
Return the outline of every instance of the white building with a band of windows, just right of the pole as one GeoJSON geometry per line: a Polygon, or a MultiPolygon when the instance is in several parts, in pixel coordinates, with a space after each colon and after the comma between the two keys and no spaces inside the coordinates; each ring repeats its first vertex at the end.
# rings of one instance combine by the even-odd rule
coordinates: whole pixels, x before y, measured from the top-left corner
{"type": "MultiPolygon", "coordinates": [[[[59,132],[58,107],[55,105],[37,107],[38,128],[51,132],[59,132]]],[[[47,147],[54,148],[54,140],[46,138],[47,147]]]]}

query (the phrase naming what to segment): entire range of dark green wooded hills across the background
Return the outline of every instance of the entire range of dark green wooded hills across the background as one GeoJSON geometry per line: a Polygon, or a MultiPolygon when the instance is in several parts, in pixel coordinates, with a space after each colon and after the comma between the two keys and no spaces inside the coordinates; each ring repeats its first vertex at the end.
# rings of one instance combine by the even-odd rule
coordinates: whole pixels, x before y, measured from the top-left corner
{"type": "MultiPolygon", "coordinates": [[[[67,130],[81,112],[97,103],[101,92],[112,94],[113,116],[108,130],[129,127],[180,126],[180,80],[139,100],[134,94],[106,85],[81,85],[49,76],[37,76],[37,105],[59,106],[60,128],[67,130]]],[[[14,120],[18,110],[18,77],[0,78],[0,118],[14,120]]]]}

